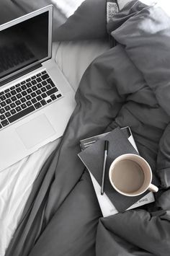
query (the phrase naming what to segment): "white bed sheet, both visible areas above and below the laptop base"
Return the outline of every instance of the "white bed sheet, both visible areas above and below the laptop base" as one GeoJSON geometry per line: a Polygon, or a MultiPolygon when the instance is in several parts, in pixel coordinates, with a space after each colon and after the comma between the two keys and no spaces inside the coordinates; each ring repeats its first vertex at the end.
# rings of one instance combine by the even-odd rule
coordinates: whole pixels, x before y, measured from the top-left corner
{"type": "MultiPolygon", "coordinates": [[[[102,41],[54,43],[53,58],[76,92],[89,63],[109,48],[102,41]]],[[[0,256],[17,228],[33,182],[60,138],[0,172],[0,256]]]]}

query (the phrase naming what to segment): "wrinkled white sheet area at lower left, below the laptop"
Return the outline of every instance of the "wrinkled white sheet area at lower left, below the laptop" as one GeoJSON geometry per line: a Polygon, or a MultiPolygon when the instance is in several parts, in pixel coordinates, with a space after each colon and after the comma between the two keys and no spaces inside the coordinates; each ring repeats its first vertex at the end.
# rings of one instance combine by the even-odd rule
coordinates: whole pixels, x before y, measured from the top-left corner
{"type": "Polygon", "coordinates": [[[54,141],[0,172],[0,230],[3,234],[0,236],[0,255],[4,255],[21,219],[24,202],[27,202],[38,172],[55,145],[54,141]]]}

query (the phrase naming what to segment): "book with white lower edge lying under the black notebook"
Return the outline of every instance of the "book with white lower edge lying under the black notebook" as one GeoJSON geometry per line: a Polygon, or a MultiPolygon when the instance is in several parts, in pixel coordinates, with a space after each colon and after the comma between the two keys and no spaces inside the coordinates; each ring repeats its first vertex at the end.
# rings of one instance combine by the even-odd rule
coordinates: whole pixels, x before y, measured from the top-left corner
{"type": "MultiPolygon", "coordinates": [[[[133,148],[135,149],[135,152],[138,153],[138,149],[137,149],[137,146],[135,144],[133,134],[130,131],[130,128],[125,127],[125,128],[121,128],[120,130],[123,133],[123,135],[125,136],[125,138],[127,138],[128,141],[130,142],[130,144],[133,146],[133,148]]],[[[97,142],[101,139],[105,140],[105,137],[108,136],[109,133],[103,133],[103,134],[100,134],[100,135],[97,135],[97,136],[93,136],[91,138],[86,138],[84,140],[81,140],[80,141],[81,150],[86,151],[86,149],[89,148],[89,146],[91,146],[95,142],[97,142]]],[[[120,135],[122,135],[122,133],[120,133],[120,135]]],[[[81,158],[81,153],[79,154],[79,157],[81,158]]],[[[89,169],[89,168],[87,167],[87,169],[89,169]]],[[[103,214],[104,217],[110,216],[110,215],[118,213],[120,211],[127,211],[127,210],[130,210],[132,208],[137,208],[139,206],[143,206],[146,203],[152,203],[155,200],[152,192],[146,193],[146,195],[141,195],[140,198],[133,197],[133,201],[131,201],[130,198],[127,198],[127,197],[123,196],[124,200],[122,200],[121,206],[124,205],[124,207],[123,208],[122,207],[120,207],[120,208],[117,207],[116,208],[115,203],[113,203],[112,198],[110,198],[107,195],[107,191],[104,191],[104,195],[101,195],[101,186],[99,185],[99,182],[94,177],[92,172],[90,172],[90,170],[89,170],[89,174],[91,176],[91,181],[94,185],[94,190],[95,190],[95,193],[97,195],[97,199],[99,201],[99,206],[101,208],[101,211],[102,211],[102,214],[103,214]],[[128,199],[128,205],[127,205],[127,203],[125,203],[125,200],[127,200],[127,199],[128,199]]],[[[112,192],[113,192],[113,190],[112,190],[112,192]]],[[[113,195],[114,195],[114,193],[113,193],[113,195]]],[[[122,198],[118,197],[118,200],[119,199],[121,200],[122,198]]]]}

